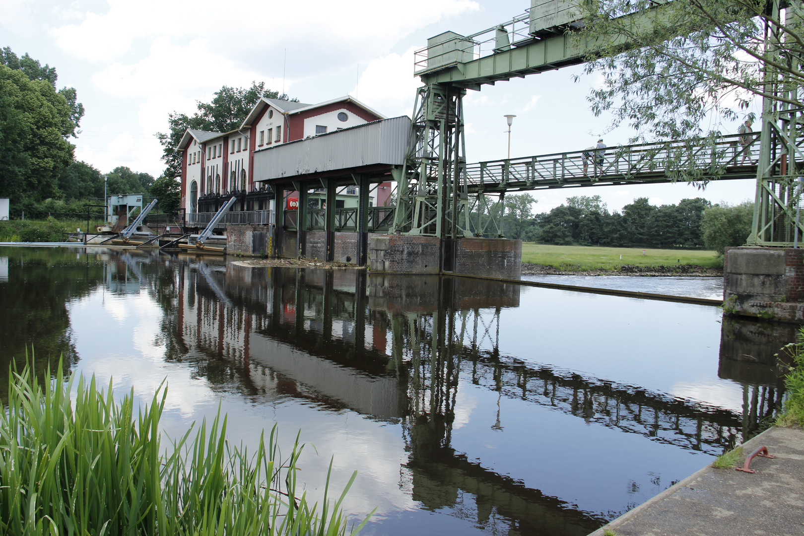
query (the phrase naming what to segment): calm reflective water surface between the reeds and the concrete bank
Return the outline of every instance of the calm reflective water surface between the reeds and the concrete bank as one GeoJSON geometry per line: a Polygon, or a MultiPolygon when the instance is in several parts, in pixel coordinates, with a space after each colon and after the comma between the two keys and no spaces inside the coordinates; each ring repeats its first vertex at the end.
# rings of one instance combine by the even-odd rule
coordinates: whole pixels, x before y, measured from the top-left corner
{"type": "Polygon", "coordinates": [[[63,354],[137,403],[166,381],[166,436],[219,408],[237,443],[277,423],[312,495],[330,460],[335,489],[358,470],[362,534],[589,534],[767,423],[793,338],[486,280],[0,248],[0,381],[32,344],[39,374],[63,354]]]}

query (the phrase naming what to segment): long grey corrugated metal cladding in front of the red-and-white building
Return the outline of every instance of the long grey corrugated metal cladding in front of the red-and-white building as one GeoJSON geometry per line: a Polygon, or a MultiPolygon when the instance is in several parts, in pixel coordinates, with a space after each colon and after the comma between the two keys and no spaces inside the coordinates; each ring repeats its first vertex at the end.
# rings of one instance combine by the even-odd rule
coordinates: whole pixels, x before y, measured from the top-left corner
{"type": "Polygon", "coordinates": [[[410,128],[409,117],[392,117],[263,149],[254,153],[254,180],[375,164],[401,166],[410,128]]]}

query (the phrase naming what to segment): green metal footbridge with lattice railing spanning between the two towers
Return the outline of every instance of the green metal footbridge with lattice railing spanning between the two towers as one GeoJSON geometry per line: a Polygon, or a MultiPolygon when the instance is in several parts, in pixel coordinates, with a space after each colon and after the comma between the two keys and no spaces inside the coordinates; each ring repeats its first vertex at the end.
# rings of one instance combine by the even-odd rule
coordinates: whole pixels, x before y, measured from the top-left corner
{"type": "Polygon", "coordinates": [[[753,174],[759,135],[729,134],[699,144],[667,141],[478,162],[466,167],[466,186],[482,192],[640,178],[704,181],[727,175],[728,168],[736,166],[753,174]],[[740,137],[751,139],[743,145],[740,137]]]}

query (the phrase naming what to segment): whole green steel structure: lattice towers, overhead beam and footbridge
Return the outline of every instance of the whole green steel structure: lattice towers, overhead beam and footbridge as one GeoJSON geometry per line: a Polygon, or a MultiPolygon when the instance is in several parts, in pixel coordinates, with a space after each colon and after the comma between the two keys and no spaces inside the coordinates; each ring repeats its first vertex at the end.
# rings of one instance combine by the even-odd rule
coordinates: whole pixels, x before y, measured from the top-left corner
{"type": "MultiPolygon", "coordinates": [[[[609,148],[603,169],[593,170],[589,162],[586,176],[583,151],[467,165],[462,99],[468,89],[584,63],[597,47],[574,35],[579,21],[573,5],[572,0],[531,0],[530,10],[507,23],[466,36],[447,31],[416,52],[415,75],[425,85],[416,95],[404,166],[393,172],[399,186],[389,231],[441,239],[482,235],[470,215],[486,195],[496,194],[499,203],[507,191],[753,178],[757,190],[749,243],[792,245],[795,229],[804,231],[798,219],[804,152],[797,135],[804,109],[779,100],[763,100],[761,130],[750,147],[752,165],[741,165],[736,136],[609,148]]],[[[804,12],[800,0],[769,2],[776,19],[785,8],[788,18],[804,12]]],[[[626,17],[647,26],[674,9],[672,1],[656,2],[626,17]]],[[[775,30],[766,33],[772,36],[775,30]]],[[[798,85],[772,65],[763,69],[769,92],[798,98],[798,85]]]]}

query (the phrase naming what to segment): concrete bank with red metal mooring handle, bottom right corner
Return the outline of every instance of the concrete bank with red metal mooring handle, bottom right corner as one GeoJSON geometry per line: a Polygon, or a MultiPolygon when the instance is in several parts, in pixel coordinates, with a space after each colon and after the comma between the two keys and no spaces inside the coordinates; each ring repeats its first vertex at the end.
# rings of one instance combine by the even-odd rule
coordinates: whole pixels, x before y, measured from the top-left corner
{"type": "MultiPolygon", "coordinates": [[[[756,473],[711,465],[589,536],[801,536],[804,534],[804,431],[770,428],[743,445],[756,473]]],[[[742,467],[744,459],[740,459],[742,467]]]]}

